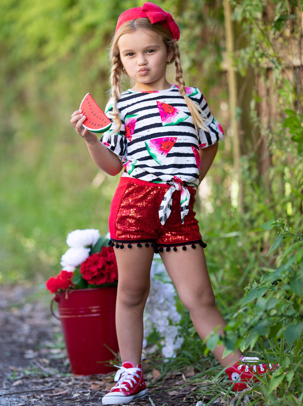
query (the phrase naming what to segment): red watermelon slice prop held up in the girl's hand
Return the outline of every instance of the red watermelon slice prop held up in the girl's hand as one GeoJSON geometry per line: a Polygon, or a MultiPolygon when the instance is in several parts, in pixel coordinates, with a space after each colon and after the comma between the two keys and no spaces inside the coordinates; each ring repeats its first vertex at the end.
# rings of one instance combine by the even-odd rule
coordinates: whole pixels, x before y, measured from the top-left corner
{"type": "Polygon", "coordinates": [[[106,117],[89,93],[84,96],[79,109],[82,110],[82,114],[86,117],[83,127],[87,128],[87,130],[100,133],[107,131],[111,127],[112,122],[106,117]]]}

